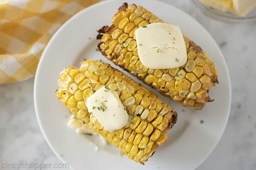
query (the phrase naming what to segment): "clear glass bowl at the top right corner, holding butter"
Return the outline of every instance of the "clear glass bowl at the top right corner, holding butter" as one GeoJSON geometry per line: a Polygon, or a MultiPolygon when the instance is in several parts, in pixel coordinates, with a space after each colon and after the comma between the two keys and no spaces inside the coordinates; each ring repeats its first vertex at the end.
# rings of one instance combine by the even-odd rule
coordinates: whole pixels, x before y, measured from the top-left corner
{"type": "Polygon", "coordinates": [[[218,9],[201,3],[199,0],[192,0],[192,2],[203,12],[203,14],[211,17],[214,20],[222,21],[225,23],[245,23],[248,21],[256,20],[256,7],[253,8],[253,10],[250,11],[245,17],[240,17],[229,11],[219,11],[218,9]]]}

